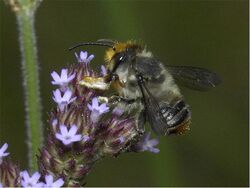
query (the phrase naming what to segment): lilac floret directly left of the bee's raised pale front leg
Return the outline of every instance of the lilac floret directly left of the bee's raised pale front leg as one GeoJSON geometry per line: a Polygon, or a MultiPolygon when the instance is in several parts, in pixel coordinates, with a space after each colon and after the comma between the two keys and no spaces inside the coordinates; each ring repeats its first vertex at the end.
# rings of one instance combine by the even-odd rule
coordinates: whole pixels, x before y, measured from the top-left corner
{"type": "Polygon", "coordinates": [[[62,69],[61,76],[55,71],[51,73],[51,76],[54,79],[54,81],[51,82],[53,85],[65,86],[75,78],[75,73],[68,75],[68,69],[62,69]]]}

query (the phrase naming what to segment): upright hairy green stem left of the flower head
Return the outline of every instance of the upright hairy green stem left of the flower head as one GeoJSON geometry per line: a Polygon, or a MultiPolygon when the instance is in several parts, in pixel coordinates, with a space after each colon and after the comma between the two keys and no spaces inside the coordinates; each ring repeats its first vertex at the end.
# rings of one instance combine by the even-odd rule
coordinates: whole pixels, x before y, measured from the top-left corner
{"type": "MultiPolygon", "coordinates": [[[[13,0],[10,0],[13,3],[13,0]]],[[[16,0],[12,8],[17,15],[22,56],[22,76],[25,91],[26,128],[29,168],[37,169],[37,152],[42,146],[41,100],[34,15],[40,1],[16,0]],[[16,8],[16,10],[14,9],[16,8]]],[[[12,5],[12,4],[11,4],[12,5]]]]}

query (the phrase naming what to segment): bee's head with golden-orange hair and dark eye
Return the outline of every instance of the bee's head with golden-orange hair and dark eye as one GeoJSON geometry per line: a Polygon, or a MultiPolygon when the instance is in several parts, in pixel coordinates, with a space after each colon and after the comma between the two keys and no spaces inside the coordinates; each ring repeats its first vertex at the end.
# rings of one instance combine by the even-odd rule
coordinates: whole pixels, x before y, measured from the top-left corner
{"type": "Polygon", "coordinates": [[[113,73],[124,62],[132,62],[136,54],[142,50],[143,46],[135,41],[116,42],[105,54],[108,71],[113,73]]]}

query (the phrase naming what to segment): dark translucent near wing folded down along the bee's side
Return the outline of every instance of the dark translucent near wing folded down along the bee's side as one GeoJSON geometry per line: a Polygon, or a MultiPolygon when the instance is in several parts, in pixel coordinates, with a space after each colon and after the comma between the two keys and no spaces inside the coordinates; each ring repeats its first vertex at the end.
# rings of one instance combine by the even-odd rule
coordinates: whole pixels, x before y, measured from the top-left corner
{"type": "Polygon", "coordinates": [[[163,117],[158,101],[151,94],[151,92],[146,87],[145,83],[139,83],[143,100],[146,109],[147,119],[153,129],[153,131],[158,135],[164,135],[166,132],[166,122],[163,117]]]}

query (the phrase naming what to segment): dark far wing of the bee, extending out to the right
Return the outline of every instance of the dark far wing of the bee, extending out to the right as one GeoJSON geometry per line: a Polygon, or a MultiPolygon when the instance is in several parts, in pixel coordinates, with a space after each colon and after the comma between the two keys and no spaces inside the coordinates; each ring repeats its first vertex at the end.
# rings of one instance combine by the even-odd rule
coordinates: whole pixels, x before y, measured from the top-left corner
{"type": "Polygon", "coordinates": [[[222,81],[214,72],[191,66],[167,66],[174,79],[180,84],[196,90],[209,90],[222,81]]]}

